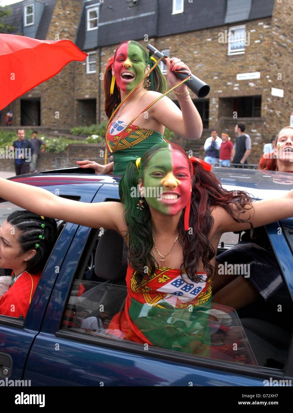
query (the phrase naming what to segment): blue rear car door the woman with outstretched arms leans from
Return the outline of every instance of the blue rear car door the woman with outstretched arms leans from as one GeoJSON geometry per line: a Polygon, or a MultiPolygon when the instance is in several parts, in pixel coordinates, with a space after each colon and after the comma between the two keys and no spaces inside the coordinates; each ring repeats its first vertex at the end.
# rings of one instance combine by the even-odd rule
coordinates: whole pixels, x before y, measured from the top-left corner
{"type": "MultiPolygon", "coordinates": [[[[93,202],[106,199],[118,199],[115,185],[103,185],[93,202]]],[[[42,328],[30,350],[25,380],[31,380],[32,385],[45,386],[263,386],[263,372],[254,366],[176,354],[157,347],[64,330],[66,304],[72,289],[79,287],[78,283],[74,285],[73,279],[79,264],[82,265],[82,257],[88,259],[87,242],[91,241],[91,231],[91,228],[80,227],[70,245],[42,328]]],[[[125,286],[117,288],[125,293],[125,286]]]]}

